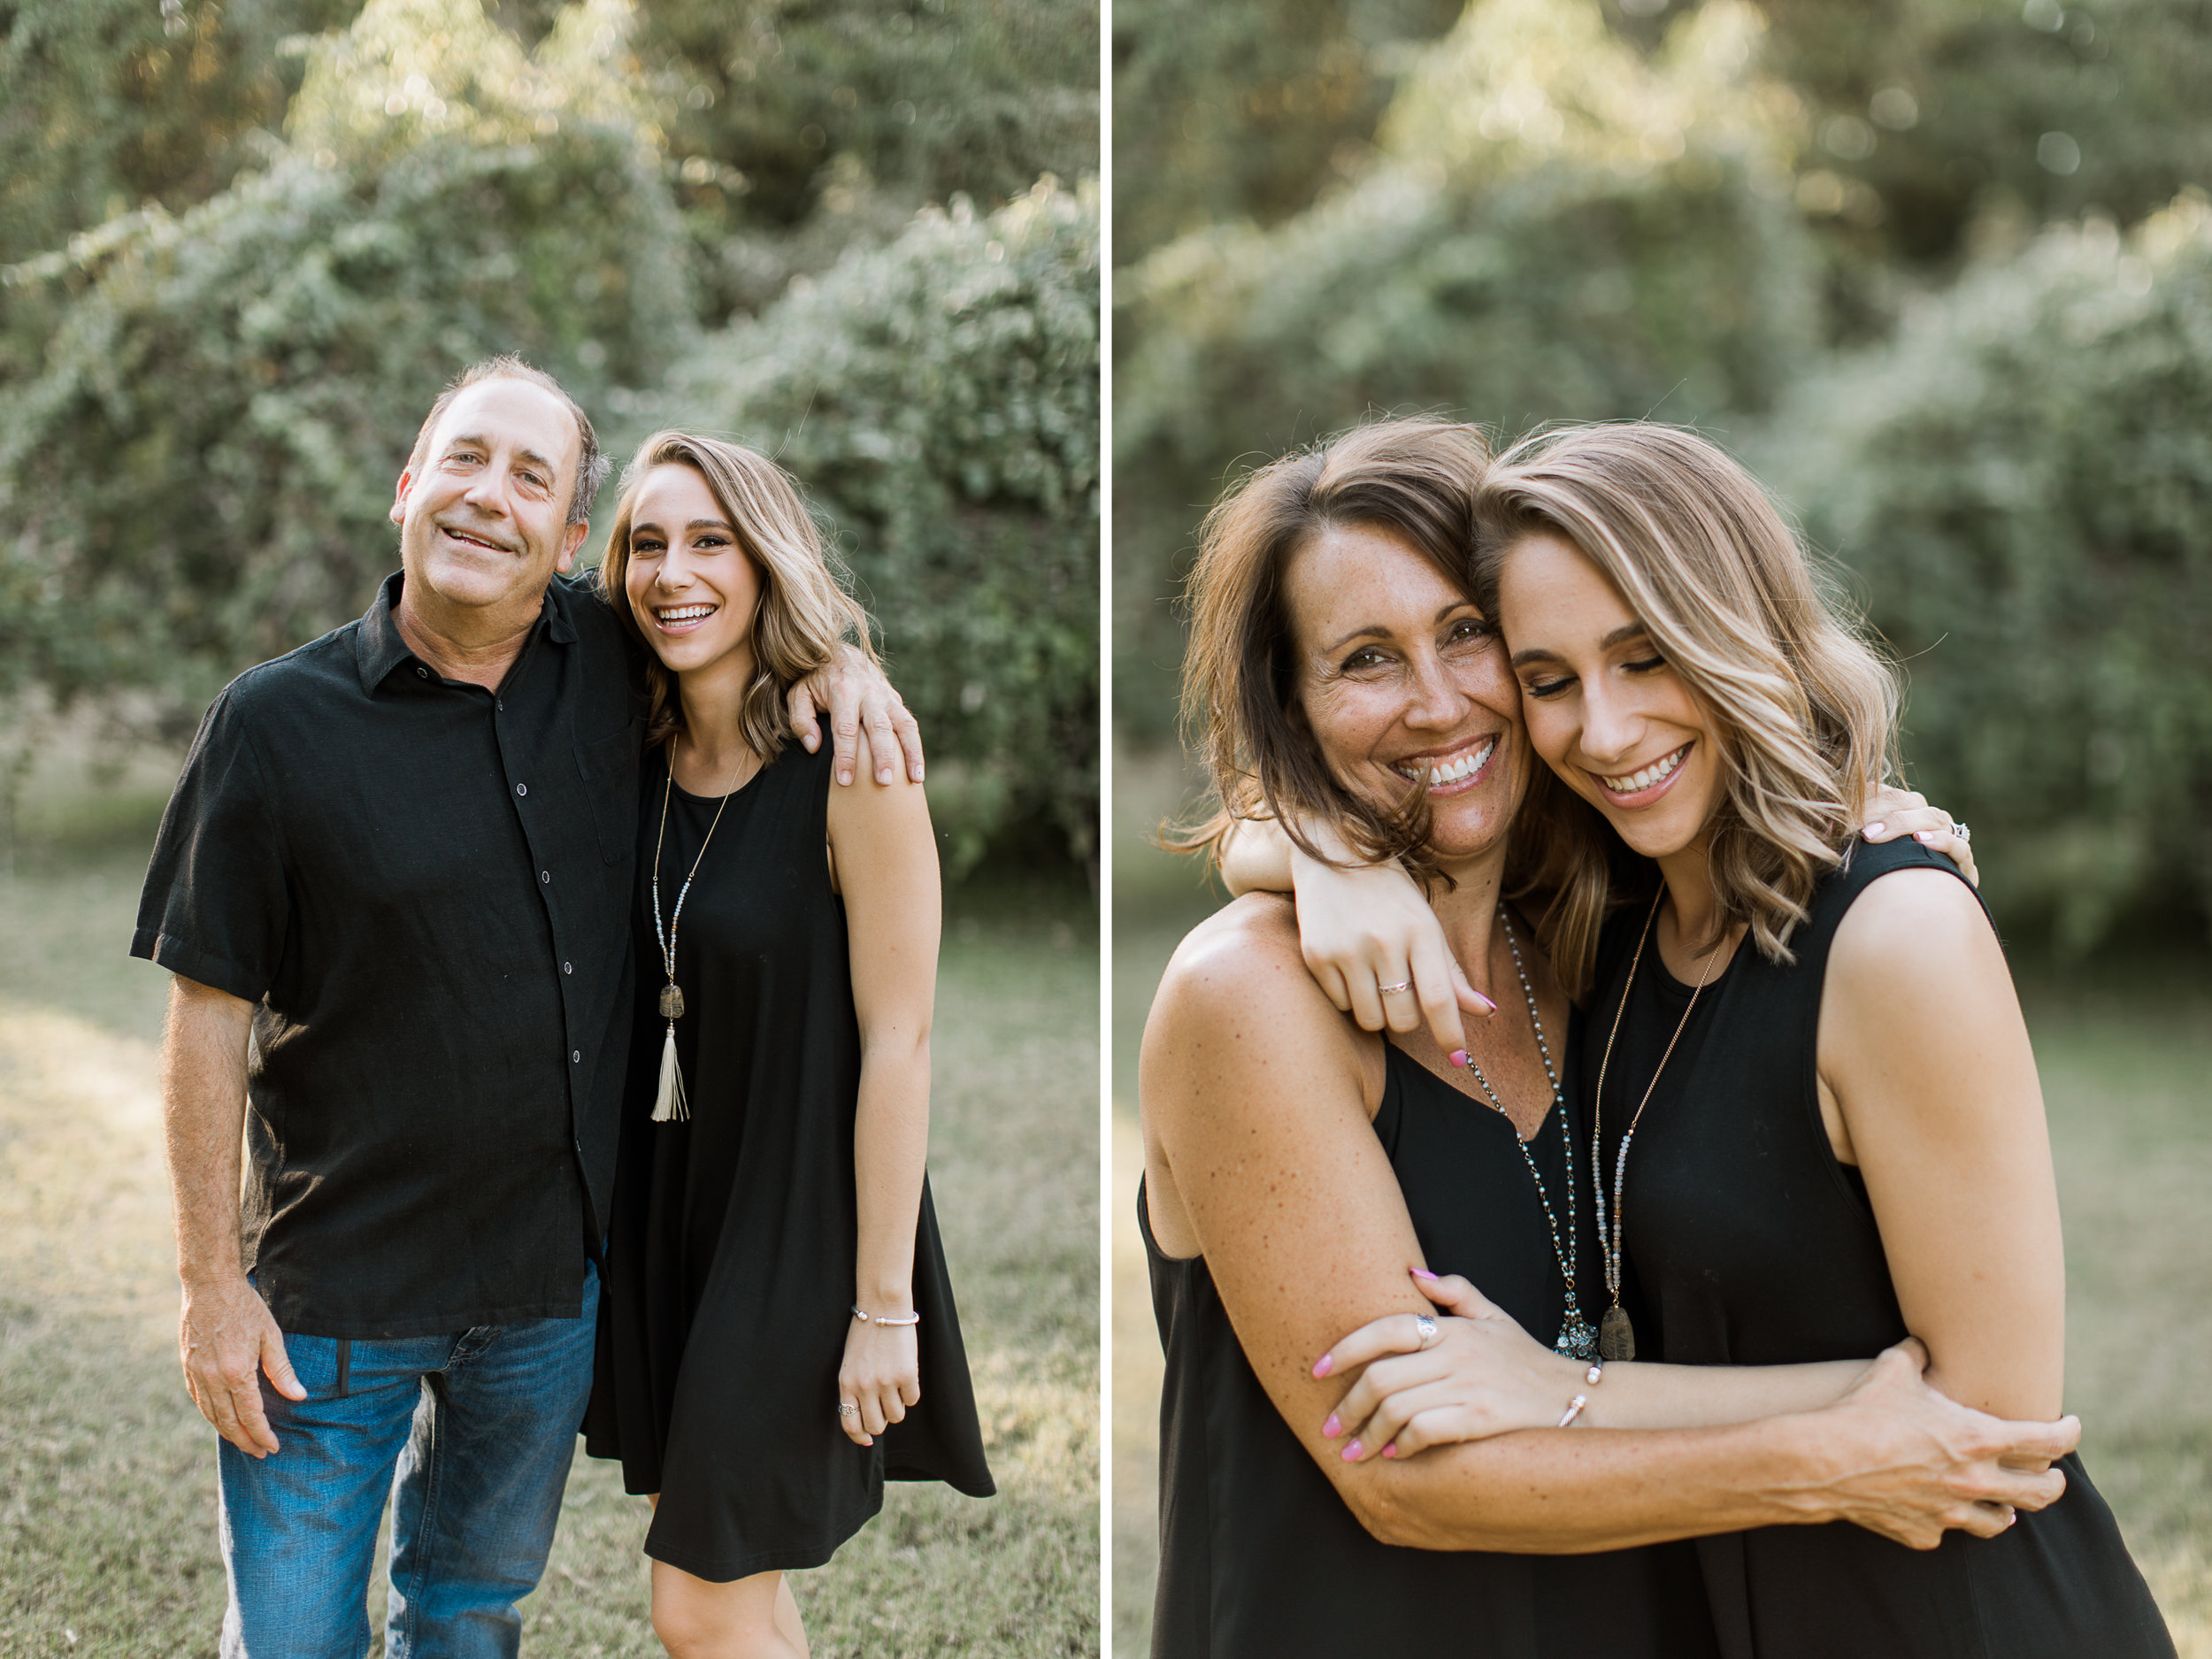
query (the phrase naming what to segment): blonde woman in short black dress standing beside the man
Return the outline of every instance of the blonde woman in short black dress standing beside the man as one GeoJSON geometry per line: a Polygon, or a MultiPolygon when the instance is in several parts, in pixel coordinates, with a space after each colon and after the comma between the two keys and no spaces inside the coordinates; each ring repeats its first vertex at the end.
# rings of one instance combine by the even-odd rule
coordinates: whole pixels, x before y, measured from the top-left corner
{"type": "Polygon", "coordinates": [[[867,617],[790,478],[655,434],[604,595],[653,650],[639,998],[586,1449],[650,1493],[679,1659],[805,1655],[792,1568],[883,1482],[991,1493],[929,1183],[918,783],[830,787],[783,692],[867,617]]]}

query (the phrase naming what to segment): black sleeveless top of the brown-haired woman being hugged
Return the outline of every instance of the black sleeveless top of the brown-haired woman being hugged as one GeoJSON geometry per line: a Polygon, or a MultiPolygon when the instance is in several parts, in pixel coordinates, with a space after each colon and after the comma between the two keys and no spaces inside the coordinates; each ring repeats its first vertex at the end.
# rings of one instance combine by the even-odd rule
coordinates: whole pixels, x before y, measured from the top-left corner
{"type": "MultiPolygon", "coordinates": [[[[1559,1046],[1573,1071],[1573,1040],[1559,1046]]],[[[1528,1150],[1566,1228],[1566,1097],[1528,1150]]],[[[1436,1272],[1467,1274],[1542,1343],[1564,1283],[1513,1126],[1398,1048],[1387,1051],[1376,1137],[1436,1272]]],[[[1577,1157],[1579,1172],[1579,1157],[1577,1157]]],[[[1599,1276],[1593,1212],[1577,1208],[1584,1310],[1599,1276]]],[[[1378,1544],[1345,1509],[1261,1387],[1203,1256],[1159,1250],[1137,1223],[1168,1354],[1159,1400],[1155,1659],[1449,1655],[1451,1659],[1710,1659],[1688,1544],[1599,1555],[1493,1555],[1378,1544]]],[[[1564,1243],[1564,1239],[1562,1239],[1564,1243]]],[[[1593,1314],[1595,1318],[1595,1314],[1593,1314]]]]}

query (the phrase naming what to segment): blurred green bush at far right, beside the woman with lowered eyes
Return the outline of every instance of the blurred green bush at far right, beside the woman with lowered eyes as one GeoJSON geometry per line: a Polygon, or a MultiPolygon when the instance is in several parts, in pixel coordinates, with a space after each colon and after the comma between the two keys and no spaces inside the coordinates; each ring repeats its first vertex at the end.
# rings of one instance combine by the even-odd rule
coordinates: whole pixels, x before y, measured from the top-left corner
{"type": "Polygon", "coordinates": [[[1911,672],[1916,783],[2059,949],[2212,918],[2212,208],[2055,228],[1809,383],[1754,462],[1911,672]]]}

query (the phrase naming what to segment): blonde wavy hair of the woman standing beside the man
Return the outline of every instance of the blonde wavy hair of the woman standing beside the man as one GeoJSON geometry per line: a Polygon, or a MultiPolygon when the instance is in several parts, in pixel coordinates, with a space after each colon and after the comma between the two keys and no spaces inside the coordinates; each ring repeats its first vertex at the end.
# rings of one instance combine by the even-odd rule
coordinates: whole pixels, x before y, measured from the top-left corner
{"type": "Polygon", "coordinates": [[[622,626],[646,646],[648,745],[684,730],[684,699],[677,697],[675,675],[653,655],[646,630],[630,611],[630,522],[646,473],[670,465],[690,467],[706,480],[761,577],[750,635],[752,681],[741,699],[739,726],[752,752],[768,763],[792,737],[785,697],[830,661],[838,639],[852,639],[874,661],[867,611],[845,591],[845,568],[790,473],[743,445],[688,431],[655,431],[622,469],[622,502],[599,564],[599,597],[615,606],[622,626]]]}

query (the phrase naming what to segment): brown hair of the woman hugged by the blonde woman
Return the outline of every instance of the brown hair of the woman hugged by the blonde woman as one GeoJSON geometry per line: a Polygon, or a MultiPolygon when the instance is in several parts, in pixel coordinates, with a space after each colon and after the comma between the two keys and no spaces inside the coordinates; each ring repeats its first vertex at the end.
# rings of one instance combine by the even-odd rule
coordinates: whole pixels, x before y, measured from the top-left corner
{"type": "Polygon", "coordinates": [[[1298,650],[1283,577],[1298,549],[1332,529],[1383,529],[1473,597],[1475,484],[1491,449],[1462,422],[1374,420],[1237,482],[1206,515],[1186,604],[1183,739],[1210,772],[1203,816],[1166,836],[1181,852],[1219,847],[1239,818],[1272,816],[1310,856],[1329,825],[1369,863],[1405,858],[1436,878],[1427,790],[1396,807],[1329,772],[1298,708],[1298,650]]]}

